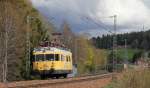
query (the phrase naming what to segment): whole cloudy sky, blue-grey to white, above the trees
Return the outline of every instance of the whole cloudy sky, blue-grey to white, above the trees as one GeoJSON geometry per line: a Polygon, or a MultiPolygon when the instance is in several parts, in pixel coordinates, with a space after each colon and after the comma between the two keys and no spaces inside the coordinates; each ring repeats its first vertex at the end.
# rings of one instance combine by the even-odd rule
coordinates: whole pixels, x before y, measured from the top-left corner
{"type": "Polygon", "coordinates": [[[75,33],[101,36],[112,33],[117,15],[117,33],[150,28],[150,0],[31,0],[43,16],[61,29],[68,22],[75,33]]]}

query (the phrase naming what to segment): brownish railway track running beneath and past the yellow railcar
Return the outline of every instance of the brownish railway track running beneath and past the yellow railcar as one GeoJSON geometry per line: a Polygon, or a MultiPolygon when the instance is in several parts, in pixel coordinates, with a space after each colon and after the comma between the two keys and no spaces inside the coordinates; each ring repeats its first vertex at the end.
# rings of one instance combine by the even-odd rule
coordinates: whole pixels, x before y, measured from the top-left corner
{"type": "Polygon", "coordinates": [[[37,88],[37,87],[46,87],[54,85],[63,85],[68,83],[80,83],[84,81],[92,81],[97,79],[112,78],[114,73],[103,74],[103,75],[94,75],[94,76],[84,76],[84,77],[75,77],[68,79],[52,79],[52,80],[33,80],[33,81],[21,81],[21,82],[12,82],[7,83],[6,88],[37,88]]]}

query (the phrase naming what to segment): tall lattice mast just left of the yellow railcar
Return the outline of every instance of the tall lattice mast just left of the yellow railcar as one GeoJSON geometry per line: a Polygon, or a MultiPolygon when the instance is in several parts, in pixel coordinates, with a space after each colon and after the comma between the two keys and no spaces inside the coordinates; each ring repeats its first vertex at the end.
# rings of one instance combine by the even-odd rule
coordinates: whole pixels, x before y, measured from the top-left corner
{"type": "Polygon", "coordinates": [[[27,16],[27,30],[26,30],[26,76],[30,76],[30,16],[27,16]]]}

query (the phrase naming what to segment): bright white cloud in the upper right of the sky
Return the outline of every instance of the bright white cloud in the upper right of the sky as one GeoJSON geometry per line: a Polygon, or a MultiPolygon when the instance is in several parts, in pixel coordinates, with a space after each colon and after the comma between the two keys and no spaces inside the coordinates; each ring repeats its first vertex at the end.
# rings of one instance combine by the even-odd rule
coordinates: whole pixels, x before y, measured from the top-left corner
{"type": "Polygon", "coordinates": [[[116,14],[118,23],[148,24],[150,10],[142,0],[101,0],[97,16],[116,14]]]}

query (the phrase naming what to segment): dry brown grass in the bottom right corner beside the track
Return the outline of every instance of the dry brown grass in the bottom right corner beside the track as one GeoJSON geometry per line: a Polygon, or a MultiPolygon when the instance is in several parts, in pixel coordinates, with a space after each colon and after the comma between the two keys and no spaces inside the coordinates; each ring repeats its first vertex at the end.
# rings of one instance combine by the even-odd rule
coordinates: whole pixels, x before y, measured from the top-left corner
{"type": "Polygon", "coordinates": [[[114,88],[150,88],[150,70],[126,71],[114,88]]]}

